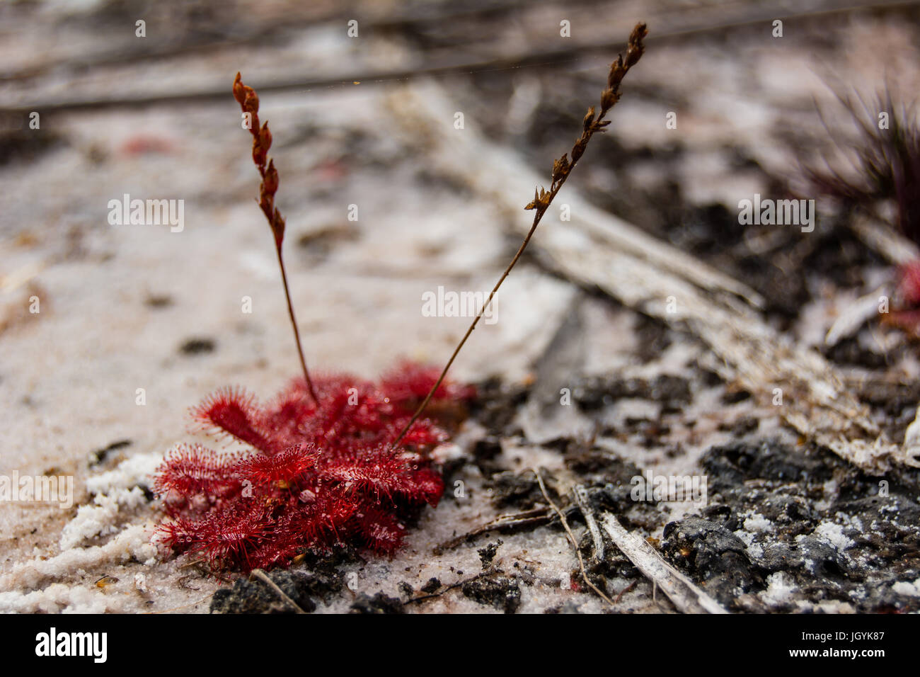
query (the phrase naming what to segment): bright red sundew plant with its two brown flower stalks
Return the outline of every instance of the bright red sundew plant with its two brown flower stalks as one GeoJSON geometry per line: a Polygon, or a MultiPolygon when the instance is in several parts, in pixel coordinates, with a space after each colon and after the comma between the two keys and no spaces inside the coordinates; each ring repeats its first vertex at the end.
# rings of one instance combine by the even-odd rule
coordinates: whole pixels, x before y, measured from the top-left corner
{"type": "MultiPolygon", "coordinates": [[[[619,99],[619,86],[638,63],[646,36],[638,24],[626,60],[611,64],[601,110],[592,107],[569,154],[555,160],[550,190],[540,189],[525,209],[534,223],[512,262],[439,372],[403,362],[379,383],[349,375],[312,379],[294,318],[282,243],[284,219],[274,204],[278,171],[269,159],[268,123],[259,126],[259,97],[237,73],[233,93],[253,136],[259,175],[259,207],[269,222],[282,274],[303,378],[269,403],[240,389],[224,388],[193,408],[204,430],[245,443],[249,451],[218,452],[179,445],[155,473],[154,490],[169,519],[157,528],[168,548],[201,557],[213,571],[245,572],[286,566],[308,548],[358,544],[392,554],[402,543],[405,521],[443,495],[431,449],[448,438],[444,423],[475,396],[446,379],[454,358],[505,277],[520,259],[553,198],[569,178],[588,142],[604,132],[604,117],[619,99]],[[442,415],[422,418],[425,409],[442,415]]],[[[455,418],[456,416],[453,416],[455,418]]]]}

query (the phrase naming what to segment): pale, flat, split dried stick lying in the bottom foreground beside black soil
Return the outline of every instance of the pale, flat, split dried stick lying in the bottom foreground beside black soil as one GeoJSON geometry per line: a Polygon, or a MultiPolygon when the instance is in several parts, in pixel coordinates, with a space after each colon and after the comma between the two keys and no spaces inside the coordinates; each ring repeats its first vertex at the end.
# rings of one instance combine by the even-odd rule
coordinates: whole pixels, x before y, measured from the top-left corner
{"type": "Polygon", "coordinates": [[[636,533],[630,533],[609,512],[601,523],[613,542],[652,584],[664,590],[678,611],[683,613],[728,613],[718,601],[694,585],[693,581],[669,565],[650,544],[636,533]]]}

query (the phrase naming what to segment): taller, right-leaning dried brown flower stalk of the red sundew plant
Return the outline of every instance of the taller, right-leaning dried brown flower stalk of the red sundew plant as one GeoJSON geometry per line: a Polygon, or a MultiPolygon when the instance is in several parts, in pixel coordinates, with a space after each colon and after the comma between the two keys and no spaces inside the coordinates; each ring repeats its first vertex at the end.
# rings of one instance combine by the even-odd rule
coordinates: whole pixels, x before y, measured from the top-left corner
{"type": "Polygon", "coordinates": [[[397,438],[394,440],[391,448],[397,447],[402,438],[406,437],[409,429],[412,425],[419,419],[419,416],[425,407],[428,406],[428,403],[431,402],[431,397],[434,396],[434,393],[441,387],[444,377],[447,376],[448,369],[451,368],[451,365],[454,364],[454,359],[460,353],[460,350],[466,344],[466,339],[469,338],[469,335],[473,333],[473,330],[476,329],[476,325],[479,322],[479,319],[483,316],[489,305],[492,302],[492,298],[495,296],[495,293],[499,290],[501,283],[505,281],[505,278],[508,277],[508,274],[512,272],[514,264],[518,262],[518,259],[521,258],[521,254],[527,248],[527,244],[530,242],[530,239],[534,237],[536,227],[540,225],[540,220],[543,218],[543,215],[546,214],[546,210],[549,209],[549,205],[552,204],[553,198],[556,197],[559,190],[561,190],[562,185],[566,182],[571,174],[572,169],[575,169],[575,164],[579,161],[582,154],[584,153],[585,148],[588,147],[588,142],[591,141],[591,137],[597,132],[604,132],[604,127],[610,124],[609,120],[604,120],[607,112],[610,111],[620,99],[620,83],[623,81],[623,77],[626,76],[629,69],[638,64],[638,60],[642,57],[642,53],[645,52],[645,45],[642,41],[648,35],[649,31],[646,29],[645,24],[636,24],[636,27],[632,29],[632,32],[629,34],[629,43],[627,46],[627,56],[626,59],[623,58],[623,55],[620,54],[616,61],[613,64],[610,64],[610,73],[607,75],[607,88],[601,92],[601,112],[595,117],[594,107],[588,109],[588,113],[584,116],[584,120],[581,122],[581,136],[575,142],[575,146],[572,146],[571,149],[571,160],[569,161],[569,154],[565,153],[558,160],[553,161],[553,175],[552,182],[549,186],[549,191],[547,192],[543,188],[534,189],[534,199],[524,207],[524,209],[534,209],[534,222],[530,227],[530,230],[527,232],[527,235],[524,236],[521,246],[518,248],[517,253],[514,254],[512,262],[508,264],[508,267],[505,268],[505,272],[501,274],[499,281],[495,283],[495,286],[492,288],[492,291],[489,292],[489,298],[486,299],[486,302],[482,304],[482,309],[479,310],[477,316],[473,319],[472,323],[469,325],[469,329],[466,330],[463,338],[460,339],[460,343],[457,344],[454,348],[454,354],[447,364],[444,366],[441,376],[438,380],[431,386],[431,391],[428,392],[428,395],[425,396],[425,399],[419,405],[419,408],[416,410],[415,414],[412,414],[412,418],[409,420],[406,427],[403,428],[402,432],[399,433],[397,438]]]}

